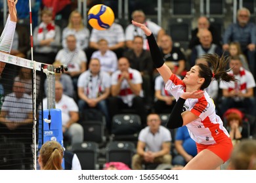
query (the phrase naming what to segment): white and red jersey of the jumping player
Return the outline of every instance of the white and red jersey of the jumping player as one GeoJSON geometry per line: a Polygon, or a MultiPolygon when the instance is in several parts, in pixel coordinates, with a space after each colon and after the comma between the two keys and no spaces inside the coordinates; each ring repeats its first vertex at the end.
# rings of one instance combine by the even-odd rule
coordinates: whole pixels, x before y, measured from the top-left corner
{"type": "MultiPolygon", "coordinates": [[[[170,90],[176,101],[186,91],[186,86],[176,75],[171,75],[165,84],[165,90],[170,90]]],[[[213,99],[204,92],[200,99],[186,99],[183,110],[190,110],[199,118],[186,125],[190,137],[200,144],[216,144],[229,138],[223,121],[215,113],[213,99]]]]}

